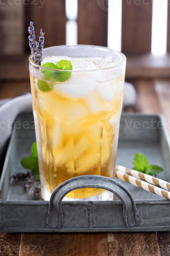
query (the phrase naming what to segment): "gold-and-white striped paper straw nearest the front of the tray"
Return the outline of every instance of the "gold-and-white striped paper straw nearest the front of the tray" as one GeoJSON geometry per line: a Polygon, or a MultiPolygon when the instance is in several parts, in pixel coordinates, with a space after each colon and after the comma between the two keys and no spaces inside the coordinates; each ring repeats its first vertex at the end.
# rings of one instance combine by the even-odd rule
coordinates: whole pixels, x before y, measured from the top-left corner
{"type": "Polygon", "coordinates": [[[116,177],[121,179],[122,181],[129,182],[130,184],[132,184],[136,187],[143,188],[146,191],[149,191],[153,194],[156,194],[158,196],[161,196],[161,197],[164,197],[164,198],[170,200],[170,192],[168,192],[164,189],[158,188],[154,185],[151,185],[151,184],[147,183],[146,181],[141,181],[140,179],[137,179],[133,176],[125,174],[121,171],[116,171],[116,177]]]}

